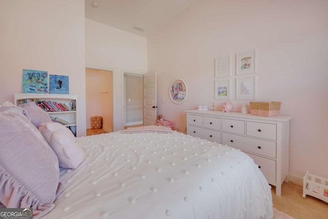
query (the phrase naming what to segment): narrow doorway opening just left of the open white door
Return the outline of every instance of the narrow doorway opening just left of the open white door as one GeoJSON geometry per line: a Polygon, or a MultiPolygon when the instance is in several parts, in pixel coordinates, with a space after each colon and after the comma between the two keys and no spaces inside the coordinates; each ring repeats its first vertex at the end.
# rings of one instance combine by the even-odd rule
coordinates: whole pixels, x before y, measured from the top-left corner
{"type": "Polygon", "coordinates": [[[124,73],[124,127],[143,124],[142,74],[124,73]]]}

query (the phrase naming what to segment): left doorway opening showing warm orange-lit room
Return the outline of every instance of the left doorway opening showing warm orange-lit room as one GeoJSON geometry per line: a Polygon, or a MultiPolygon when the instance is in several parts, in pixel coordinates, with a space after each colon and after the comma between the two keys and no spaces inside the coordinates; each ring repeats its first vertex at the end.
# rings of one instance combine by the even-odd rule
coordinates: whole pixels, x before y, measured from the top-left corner
{"type": "Polygon", "coordinates": [[[86,68],[87,129],[92,128],[92,116],[101,116],[104,132],[112,132],[113,106],[113,72],[86,68]]]}

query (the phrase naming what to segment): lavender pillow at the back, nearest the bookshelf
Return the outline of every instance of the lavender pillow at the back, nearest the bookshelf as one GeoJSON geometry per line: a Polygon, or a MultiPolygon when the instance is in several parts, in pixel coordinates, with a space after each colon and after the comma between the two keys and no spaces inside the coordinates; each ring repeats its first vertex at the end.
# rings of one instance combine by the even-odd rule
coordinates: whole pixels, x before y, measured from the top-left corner
{"type": "Polygon", "coordinates": [[[51,122],[51,118],[43,109],[35,104],[35,102],[30,102],[27,104],[20,104],[19,107],[22,107],[27,111],[31,118],[31,123],[36,127],[39,128],[41,123],[48,123],[51,122]]]}

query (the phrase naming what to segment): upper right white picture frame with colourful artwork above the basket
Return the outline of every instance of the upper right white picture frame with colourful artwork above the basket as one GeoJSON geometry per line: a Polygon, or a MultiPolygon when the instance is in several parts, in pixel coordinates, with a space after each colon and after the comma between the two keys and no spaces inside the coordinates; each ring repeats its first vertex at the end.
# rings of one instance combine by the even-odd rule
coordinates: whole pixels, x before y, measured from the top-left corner
{"type": "Polygon", "coordinates": [[[236,55],[236,75],[256,73],[256,51],[240,52],[236,55]]]}

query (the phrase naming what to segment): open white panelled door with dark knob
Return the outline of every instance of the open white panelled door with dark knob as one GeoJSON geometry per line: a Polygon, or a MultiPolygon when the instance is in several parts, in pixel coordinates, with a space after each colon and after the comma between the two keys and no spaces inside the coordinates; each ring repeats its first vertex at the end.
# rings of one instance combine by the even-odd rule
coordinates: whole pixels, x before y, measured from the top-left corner
{"type": "Polygon", "coordinates": [[[144,126],[156,125],[156,72],[144,74],[144,126]]]}

